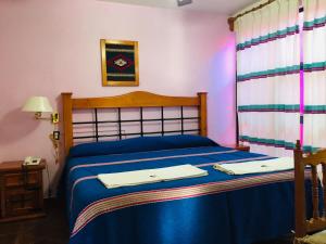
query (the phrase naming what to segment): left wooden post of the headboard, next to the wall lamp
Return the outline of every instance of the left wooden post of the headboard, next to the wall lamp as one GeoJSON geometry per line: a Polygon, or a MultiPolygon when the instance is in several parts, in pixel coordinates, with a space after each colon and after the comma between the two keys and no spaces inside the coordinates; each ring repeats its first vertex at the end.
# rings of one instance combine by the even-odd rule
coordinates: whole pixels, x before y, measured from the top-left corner
{"type": "Polygon", "coordinates": [[[63,131],[64,131],[64,155],[67,156],[71,146],[73,145],[73,101],[72,92],[62,92],[63,105],[63,131]]]}

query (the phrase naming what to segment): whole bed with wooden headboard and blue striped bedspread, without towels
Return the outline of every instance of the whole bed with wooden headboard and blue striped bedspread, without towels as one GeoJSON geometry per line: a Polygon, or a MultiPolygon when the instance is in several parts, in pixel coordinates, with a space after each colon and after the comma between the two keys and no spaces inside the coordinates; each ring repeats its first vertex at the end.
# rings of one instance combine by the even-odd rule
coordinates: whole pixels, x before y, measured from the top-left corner
{"type": "MultiPolygon", "coordinates": [[[[288,234],[293,229],[293,171],[230,176],[215,170],[215,163],[271,158],[220,146],[206,136],[206,94],[193,98],[133,92],[121,97],[74,99],[62,93],[66,152],[65,194],[70,244],[250,244],[288,234]],[[198,129],[146,132],[143,107],[180,107],[174,120],[198,120],[198,129]],[[185,106],[198,108],[186,117],[185,106]],[[100,141],[97,111],[91,143],[74,144],[73,111],[139,108],[139,137],[100,141]],[[180,134],[175,134],[180,132],[180,134]],[[198,136],[188,134],[197,132],[198,136]],[[149,133],[149,134],[147,134],[149,133]],[[152,134],[151,134],[152,133],[152,134]],[[156,133],[156,134],[155,134],[156,133]],[[158,133],[160,133],[158,136],[158,133]],[[168,136],[172,133],[172,136],[168,136]],[[151,137],[149,137],[151,136],[151,137]],[[191,164],[209,175],[175,181],[106,189],[97,175],[191,164]]],[[[133,119],[135,121],[135,119],[133,119]]],[[[88,121],[90,123],[90,121],[88,121]]],[[[85,124],[85,121],[83,121],[85,124]]],[[[166,127],[166,126],[165,126],[166,127]]],[[[117,125],[114,136],[127,133],[117,125]]],[[[105,134],[103,137],[110,137],[105,134]]]]}

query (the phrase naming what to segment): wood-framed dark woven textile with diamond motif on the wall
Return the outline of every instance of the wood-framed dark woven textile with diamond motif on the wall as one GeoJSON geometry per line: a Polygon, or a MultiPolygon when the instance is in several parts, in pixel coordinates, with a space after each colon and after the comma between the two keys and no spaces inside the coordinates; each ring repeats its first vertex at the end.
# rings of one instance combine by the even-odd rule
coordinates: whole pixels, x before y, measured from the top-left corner
{"type": "Polygon", "coordinates": [[[138,41],[101,40],[102,86],[139,86],[138,41]]]}

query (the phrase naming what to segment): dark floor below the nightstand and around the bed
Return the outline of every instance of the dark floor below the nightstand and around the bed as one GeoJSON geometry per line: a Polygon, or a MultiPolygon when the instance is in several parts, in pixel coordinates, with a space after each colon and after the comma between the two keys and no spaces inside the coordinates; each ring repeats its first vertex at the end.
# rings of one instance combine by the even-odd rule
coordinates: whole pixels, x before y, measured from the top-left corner
{"type": "MultiPolygon", "coordinates": [[[[64,216],[64,206],[55,201],[47,201],[46,206],[47,217],[45,218],[0,223],[0,244],[67,244],[68,227],[64,216]]],[[[288,236],[255,244],[291,243],[291,236],[288,236]]]]}

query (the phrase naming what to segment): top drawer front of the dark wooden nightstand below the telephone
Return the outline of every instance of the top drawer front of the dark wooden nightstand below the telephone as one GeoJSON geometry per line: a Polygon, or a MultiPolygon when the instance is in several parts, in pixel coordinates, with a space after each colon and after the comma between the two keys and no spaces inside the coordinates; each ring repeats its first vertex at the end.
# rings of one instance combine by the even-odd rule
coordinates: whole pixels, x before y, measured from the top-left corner
{"type": "Polygon", "coordinates": [[[40,181],[40,174],[38,171],[28,171],[27,174],[8,174],[4,176],[5,188],[22,187],[25,183],[38,185],[40,181]]]}

